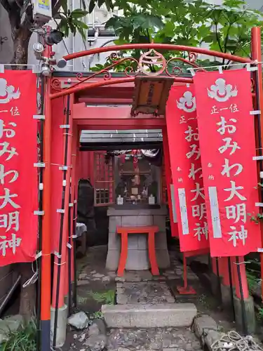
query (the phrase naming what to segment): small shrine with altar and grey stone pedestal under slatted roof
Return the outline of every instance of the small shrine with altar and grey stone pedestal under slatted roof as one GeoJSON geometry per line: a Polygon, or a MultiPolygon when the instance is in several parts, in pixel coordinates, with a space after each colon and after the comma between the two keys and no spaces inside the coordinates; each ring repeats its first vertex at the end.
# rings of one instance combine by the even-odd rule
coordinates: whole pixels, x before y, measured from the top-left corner
{"type": "MultiPolygon", "coordinates": [[[[112,271],[119,267],[121,237],[116,229],[121,225],[128,227],[157,225],[159,230],[155,234],[156,260],[159,268],[169,267],[166,241],[167,189],[162,133],[161,130],[133,132],[104,131],[104,143],[108,142],[110,150],[81,152],[81,163],[86,159],[90,160],[89,166],[82,169],[81,176],[90,179],[94,187],[94,206],[107,208],[109,230],[106,267],[112,271]],[[149,147],[152,143],[156,143],[160,148],[112,150],[116,147],[114,140],[116,143],[123,140],[124,144],[130,140],[132,146],[136,146],[136,140],[140,140],[140,147],[143,145],[149,147]],[[147,141],[142,140],[151,141],[147,144],[147,141]]],[[[97,131],[97,134],[102,134],[102,131],[97,131]]],[[[92,147],[95,150],[93,133],[84,131],[81,135],[83,135],[82,149],[92,147]]],[[[90,234],[93,234],[92,229],[90,234]]],[[[149,269],[147,239],[147,235],[140,232],[128,236],[126,270],[149,269]]]]}

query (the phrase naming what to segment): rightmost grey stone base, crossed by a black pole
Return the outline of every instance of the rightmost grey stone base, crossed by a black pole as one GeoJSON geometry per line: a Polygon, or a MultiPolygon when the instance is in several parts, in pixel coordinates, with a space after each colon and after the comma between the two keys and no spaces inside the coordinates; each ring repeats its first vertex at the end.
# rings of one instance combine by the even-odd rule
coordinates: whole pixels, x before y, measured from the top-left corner
{"type": "MultiPolygon", "coordinates": [[[[245,303],[245,317],[247,324],[247,331],[249,334],[255,333],[256,330],[256,319],[255,319],[255,307],[252,296],[244,300],[245,303]]],[[[242,305],[241,300],[234,295],[234,308],[236,314],[236,329],[243,331],[243,318],[242,318],[242,305]]]]}

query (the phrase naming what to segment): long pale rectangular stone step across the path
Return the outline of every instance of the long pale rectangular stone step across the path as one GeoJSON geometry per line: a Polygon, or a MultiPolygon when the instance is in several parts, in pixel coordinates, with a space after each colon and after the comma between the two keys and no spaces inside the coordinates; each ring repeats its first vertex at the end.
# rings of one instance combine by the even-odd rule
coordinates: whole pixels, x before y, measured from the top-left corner
{"type": "Polygon", "coordinates": [[[109,328],[191,326],[196,313],[194,303],[102,305],[109,328]]]}

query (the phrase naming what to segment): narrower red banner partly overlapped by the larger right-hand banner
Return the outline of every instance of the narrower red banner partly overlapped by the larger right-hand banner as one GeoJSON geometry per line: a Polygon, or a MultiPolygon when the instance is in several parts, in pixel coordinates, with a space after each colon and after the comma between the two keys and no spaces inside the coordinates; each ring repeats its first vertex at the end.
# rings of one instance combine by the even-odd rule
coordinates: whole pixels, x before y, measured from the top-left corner
{"type": "MultiPolygon", "coordinates": [[[[208,248],[205,195],[193,87],[173,87],[166,124],[181,251],[208,248]]],[[[173,195],[172,195],[173,196],[173,195]]]]}

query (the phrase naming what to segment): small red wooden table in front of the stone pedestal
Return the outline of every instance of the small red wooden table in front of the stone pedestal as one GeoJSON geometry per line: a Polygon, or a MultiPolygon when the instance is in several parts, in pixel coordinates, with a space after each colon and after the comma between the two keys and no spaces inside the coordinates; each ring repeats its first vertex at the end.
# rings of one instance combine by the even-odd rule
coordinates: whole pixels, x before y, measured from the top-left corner
{"type": "Polygon", "coordinates": [[[148,234],[148,253],[151,263],[151,274],[159,275],[159,267],[156,260],[155,252],[155,234],[159,232],[159,227],[156,225],[141,226],[141,227],[117,227],[116,232],[121,234],[121,256],[119,260],[118,276],[122,277],[128,256],[128,234],[148,234]]]}

